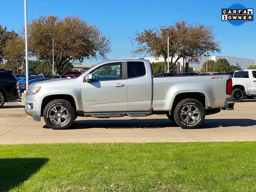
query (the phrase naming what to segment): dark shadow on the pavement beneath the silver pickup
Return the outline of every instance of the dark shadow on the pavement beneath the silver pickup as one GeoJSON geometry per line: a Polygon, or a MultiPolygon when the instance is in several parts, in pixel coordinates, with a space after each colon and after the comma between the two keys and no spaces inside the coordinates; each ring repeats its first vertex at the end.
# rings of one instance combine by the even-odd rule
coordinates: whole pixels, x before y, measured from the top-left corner
{"type": "MultiPolygon", "coordinates": [[[[218,128],[218,127],[247,127],[256,125],[253,119],[206,119],[200,129],[218,128]]],[[[165,128],[177,127],[169,119],[120,119],[120,120],[76,120],[69,128],[72,129],[89,129],[89,128],[165,128]]],[[[44,125],[43,128],[48,128],[44,125]]]]}

